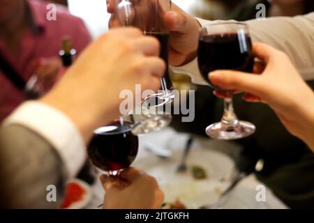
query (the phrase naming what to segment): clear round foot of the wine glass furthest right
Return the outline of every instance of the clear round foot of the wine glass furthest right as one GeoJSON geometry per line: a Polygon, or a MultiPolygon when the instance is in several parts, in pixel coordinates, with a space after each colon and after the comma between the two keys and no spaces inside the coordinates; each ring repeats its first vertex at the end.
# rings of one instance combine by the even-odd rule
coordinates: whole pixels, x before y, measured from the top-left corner
{"type": "Polygon", "coordinates": [[[214,123],[206,128],[206,134],[213,139],[241,139],[255,132],[255,125],[246,121],[239,121],[237,125],[230,126],[224,123],[214,123]]]}

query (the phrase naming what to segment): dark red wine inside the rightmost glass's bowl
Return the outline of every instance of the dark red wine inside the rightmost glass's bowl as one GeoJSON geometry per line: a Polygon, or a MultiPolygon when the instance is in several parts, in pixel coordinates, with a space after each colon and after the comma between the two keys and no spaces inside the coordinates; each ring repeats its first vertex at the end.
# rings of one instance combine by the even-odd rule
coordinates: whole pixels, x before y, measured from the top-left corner
{"type": "Polygon", "coordinates": [[[198,47],[198,66],[204,80],[211,84],[209,72],[214,70],[239,70],[252,72],[254,57],[252,43],[248,34],[224,33],[202,36],[198,47]]]}

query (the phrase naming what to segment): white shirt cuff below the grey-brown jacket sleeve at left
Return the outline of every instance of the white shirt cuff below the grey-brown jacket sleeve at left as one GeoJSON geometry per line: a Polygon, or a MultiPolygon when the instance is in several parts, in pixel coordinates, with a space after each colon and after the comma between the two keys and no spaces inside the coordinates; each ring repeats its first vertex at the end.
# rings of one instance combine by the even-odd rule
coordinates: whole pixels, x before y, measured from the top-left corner
{"type": "Polygon", "coordinates": [[[68,177],[73,178],[84,164],[87,150],[82,135],[70,119],[42,102],[24,102],[3,125],[19,124],[47,140],[59,153],[68,177]]]}

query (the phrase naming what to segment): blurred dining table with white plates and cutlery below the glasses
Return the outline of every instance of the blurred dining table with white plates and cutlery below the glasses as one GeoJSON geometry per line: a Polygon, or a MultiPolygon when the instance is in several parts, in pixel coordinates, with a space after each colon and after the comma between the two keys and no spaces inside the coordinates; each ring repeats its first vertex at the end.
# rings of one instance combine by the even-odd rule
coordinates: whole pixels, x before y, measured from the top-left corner
{"type": "MultiPolygon", "coordinates": [[[[132,167],[154,176],[165,193],[165,203],[180,201],[188,209],[214,205],[232,182],[236,171],[234,157],[241,147],[231,141],[218,141],[193,135],[193,143],[186,157],[184,172],[178,172],[186,142],[190,134],[165,128],[139,136],[139,149],[132,167]],[[193,168],[203,169],[206,177],[197,179],[193,168]]],[[[98,175],[103,174],[98,170],[98,175]]],[[[91,187],[91,200],[85,208],[97,208],[103,203],[105,192],[100,180],[91,187]]],[[[230,192],[219,208],[227,209],[285,209],[267,185],[254,174],[246,176],[230,192]],[[264,193],[264,194],[261,194],[264,193]]]]}

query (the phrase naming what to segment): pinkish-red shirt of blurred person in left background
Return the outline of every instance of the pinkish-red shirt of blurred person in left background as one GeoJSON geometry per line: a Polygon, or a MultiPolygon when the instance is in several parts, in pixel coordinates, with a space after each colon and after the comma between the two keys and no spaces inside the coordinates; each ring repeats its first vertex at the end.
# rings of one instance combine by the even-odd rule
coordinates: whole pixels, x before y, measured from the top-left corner
{"type": "MultiPolygon", "coordinates": [[[[14,57],[0,39],[0,52],[26,82],[33,74],[31,63],[36,59],[51,58],[59,55],[61,40],[64,36],[73,39],[73,47],[80,54],[91,43],[91,36],[84,22],[70,15],[68,9],[57,5],[57,20],[48,21],[47,2],[28,0],[33,22],[38,33],[27,30],[22,38],[21,52],[14,57]]],[[[0,123],[24,101],[23,92],[17,89],[0,71],[0,123]]]]}

